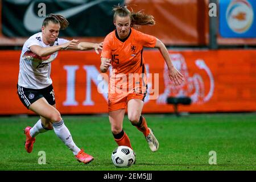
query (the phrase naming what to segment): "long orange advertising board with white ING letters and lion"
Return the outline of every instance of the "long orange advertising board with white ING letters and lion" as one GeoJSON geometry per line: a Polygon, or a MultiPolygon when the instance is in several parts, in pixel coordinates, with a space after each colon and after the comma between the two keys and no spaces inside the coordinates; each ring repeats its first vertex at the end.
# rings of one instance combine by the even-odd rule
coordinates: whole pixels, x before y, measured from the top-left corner
{"type": "MultiPolygon", "coordinates": [[[[20,51],[0,51],[1,115],[32,114],[16,94],[19,56],[20,51]]],[[[255,50],[170,51],[170,56],[185,76],[180,86],[168,79],[158,50],[143,51],[147,76],[152,78],[143,113],[174,112],[173,106],[166,104],[170,96],[191,97],[192,104],[179,106],[180,111],[256,111],[255,50]]],[[[51,77],[61,114],[108,113],[108,84],[100,75],[100,55],[93,51],[60,51],[52,62],[51,77]]]]}

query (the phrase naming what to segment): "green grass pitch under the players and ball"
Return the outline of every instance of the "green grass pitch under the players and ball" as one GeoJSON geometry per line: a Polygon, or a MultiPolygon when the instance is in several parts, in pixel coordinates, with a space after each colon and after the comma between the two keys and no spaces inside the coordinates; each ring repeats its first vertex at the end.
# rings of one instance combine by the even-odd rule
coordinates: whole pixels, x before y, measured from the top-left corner
{"type": "Polygon", "coordinates": [[[170,171],[170,170],[255,170],[256,114],[145,115],[159,141],[159,151],[151,152],[143,134],[130,124],[123,129],[137,154],[130,168],[116,168],[111,154],[117,144],[107,115],[65,116],[77,146],[94,156],[90,164],[75,160],[54,131],[39,134],[34,150],[24,149],[23,129],[39,117],[0,117],[0,170],[85,170],[85,171],[170,171]],[[39,151],[46,152],[46,164],[38,164],[39,151]],[[210,165],[210,151],[217,164],[210,165]]]}

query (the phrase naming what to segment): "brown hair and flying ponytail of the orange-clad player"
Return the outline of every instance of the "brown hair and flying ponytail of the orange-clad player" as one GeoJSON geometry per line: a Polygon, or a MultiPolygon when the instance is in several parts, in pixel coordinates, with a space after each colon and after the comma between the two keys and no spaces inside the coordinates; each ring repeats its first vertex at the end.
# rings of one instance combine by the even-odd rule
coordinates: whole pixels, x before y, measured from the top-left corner
{"type": "Polygon", "coordinates": [[[143,14],[142,10],[138,12],[131,12],[127,9],[127,6],[114,6],[114,19],[118,15],[120,17],[130,16],[131,27],[137,27],[141,25],[155,25],[154,16],[143,14]]]}

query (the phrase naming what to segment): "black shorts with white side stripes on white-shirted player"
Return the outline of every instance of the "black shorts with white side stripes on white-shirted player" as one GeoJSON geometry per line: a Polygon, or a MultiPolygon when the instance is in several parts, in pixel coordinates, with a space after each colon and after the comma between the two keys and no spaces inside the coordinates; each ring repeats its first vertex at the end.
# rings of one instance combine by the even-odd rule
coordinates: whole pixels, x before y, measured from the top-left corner
{"type": "Polygon", "coordinates": [[[44,97],[50,105],[55,105],[55,94],[52,85],[43,89],[28,89],[17,84],[17,93],[22,104],[28,107],[39,98],[44,97]]]}

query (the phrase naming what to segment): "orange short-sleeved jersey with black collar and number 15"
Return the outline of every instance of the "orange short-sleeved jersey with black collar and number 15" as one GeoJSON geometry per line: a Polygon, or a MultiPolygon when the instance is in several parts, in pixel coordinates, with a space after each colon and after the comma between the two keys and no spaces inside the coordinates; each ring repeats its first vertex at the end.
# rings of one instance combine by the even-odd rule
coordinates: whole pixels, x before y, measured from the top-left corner
{"type": "MultiPolygon", "coordinates": [[[[111,59],[112,72],[109,81],[109,89],[121,88],[127,86],[127,88],[144,90],[146,88],[146,68],[144,66],[144,59],[142,56],[143,47],[155,47],[155,36],[143,34],[133,28],[130,29],[129,35],[126,39],[119,39],[117,31],[114,30],[108,34],[104,40],[101,57],[111,59]],[[142,86],[135,88],[135,82],[131,84],[129,76],[131,73],[137,73],[137,75],[144,75],[140,79],[142,86]],[[127,78],[127,84],[123,84],[123,76],[127,78]],[[122,77],[122,78],[121,78],[122,77]],[[142,83],[143,82],[143,83],[142,83]]],[[[137,90],[138,91],[138,90],[137,90]]],[[[131,90],[129,89],[131,93],[131,90]]]]}

